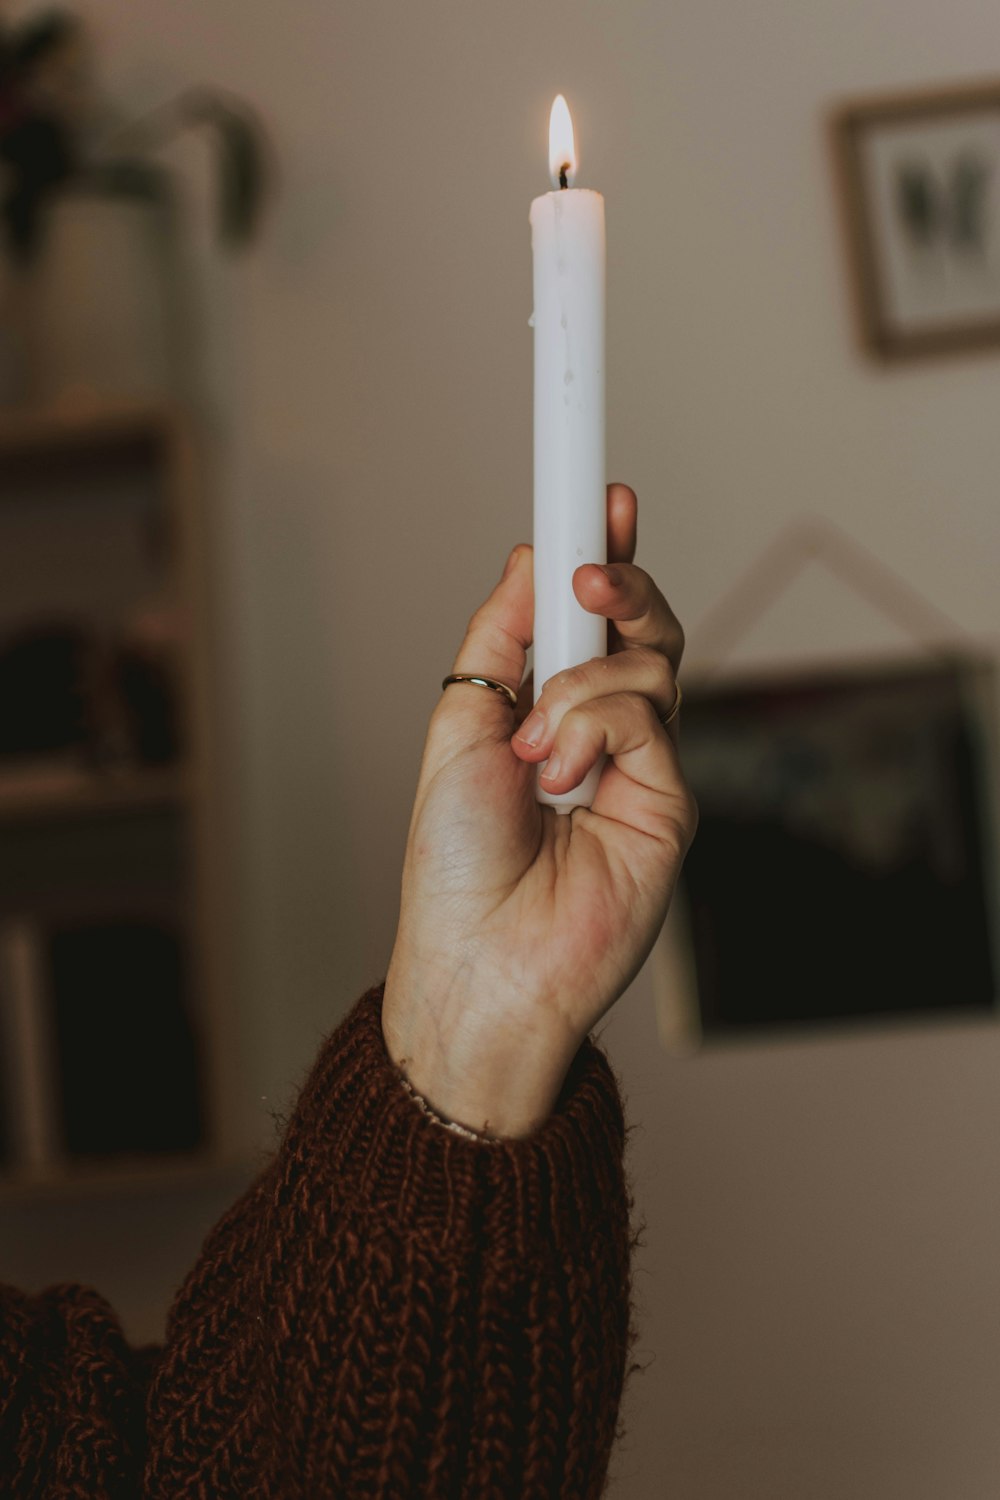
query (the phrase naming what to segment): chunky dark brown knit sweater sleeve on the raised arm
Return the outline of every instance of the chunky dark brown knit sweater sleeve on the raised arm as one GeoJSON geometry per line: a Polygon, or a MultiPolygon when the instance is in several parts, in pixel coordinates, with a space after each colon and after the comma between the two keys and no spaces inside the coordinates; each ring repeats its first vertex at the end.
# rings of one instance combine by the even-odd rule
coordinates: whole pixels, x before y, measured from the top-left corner
{"type": "Polygon", "coordinates": [[[456,1134],[382,1041],[324,1041],[207,1236],[163,1347],[103,1298],[0,1286],[0,1496],[586,1500],[633,1341],[619,1090],[586,1041],[523,1140],[456,1134]]]}

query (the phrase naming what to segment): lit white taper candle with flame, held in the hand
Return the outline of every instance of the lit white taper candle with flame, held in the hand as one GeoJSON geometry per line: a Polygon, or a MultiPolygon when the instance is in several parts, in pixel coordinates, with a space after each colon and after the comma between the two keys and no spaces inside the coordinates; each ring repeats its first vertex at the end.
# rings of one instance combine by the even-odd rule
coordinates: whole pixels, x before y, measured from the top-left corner
{"type": "MultiPolygon", "coordinates": [[[[607,560],[604,482],[604,200],[573,188],[573,122],[549,120],[553,192],[531,206],[535,288],[535,700],[558,672],[607,654],[607,621],[573,592],[574,568],[607,560]]],[[[589,807],[604,756],[579,786],[540,802],[589,807]]],[[[544,765],[538,768],[538,772],[544,765]]]]}

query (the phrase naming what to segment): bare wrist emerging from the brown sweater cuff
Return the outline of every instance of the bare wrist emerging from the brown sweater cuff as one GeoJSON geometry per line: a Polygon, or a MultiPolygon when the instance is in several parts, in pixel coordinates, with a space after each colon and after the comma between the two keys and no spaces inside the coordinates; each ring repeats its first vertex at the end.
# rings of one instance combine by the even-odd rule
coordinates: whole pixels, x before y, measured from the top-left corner
{"type": "Polygon", "coordinates": [[[445,984],[390,974],[382,996],[385,1050],[411,1089],[447,1122],[478,1136],[531,1136],[552,1114],[580,1038],[540,1011],[493,1000],[487,1020],[454,1014],[445,984]]]}

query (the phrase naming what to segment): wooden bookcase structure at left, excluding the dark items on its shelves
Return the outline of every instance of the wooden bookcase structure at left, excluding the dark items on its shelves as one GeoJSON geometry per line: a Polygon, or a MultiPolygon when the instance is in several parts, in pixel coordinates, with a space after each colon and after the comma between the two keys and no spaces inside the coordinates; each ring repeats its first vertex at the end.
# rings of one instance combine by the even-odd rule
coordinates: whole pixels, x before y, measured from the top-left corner
{"type": "MultiPolygon", "coordinates": [[[[228,1191],[234,1179],[249,1180],[259,1170],[259,1162],[237,1155],[246,1149],[246,1124],[232,1048],[238,1008],[225,868],[231,825],[220,795],[228,771],[216,741],[202,444],[196,414],[166,399],[0,408],[4,628],[61,612],[118,628],[157,600],[183,621],[171,660],[180,760],[90,770],[69,748],[0,759],[0,846],[7,850],[0,858],[0,1072],[15,1080],[0,1108],[12,1116],[19,1161],[45,1164],[0,1166],[4,1206],[124,1191],[180,1194],[184,1185],[223,1179],[228,1191]],[[25,554],[30,567],[18,562],[25,554]],[[211,1146],[64,1158],[55,1131],[64,1080],[55,1068],[51,1006],[66,980],[48,963],[49,936],[94,916],[99,926],[136,914],[175,944],[178,993],[171,1004],[190,1005],[211,1146]]],[[[112,694],[103,678],[97,687],[88,681],[87,692],[97,690],[112,694]]],[[[175,1065],[163,1059],[163,1068],[175,1065]]]]}

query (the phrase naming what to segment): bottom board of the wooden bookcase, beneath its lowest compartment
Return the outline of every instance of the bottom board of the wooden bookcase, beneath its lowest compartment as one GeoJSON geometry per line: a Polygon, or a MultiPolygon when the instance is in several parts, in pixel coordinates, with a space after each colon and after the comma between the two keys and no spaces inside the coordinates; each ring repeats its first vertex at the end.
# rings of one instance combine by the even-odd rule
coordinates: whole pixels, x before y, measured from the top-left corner
{"type": "Polygon", "coordinates": [[[232,1176],[246,1176],[249,1180],[261,1166],[261,1161],[246,1156],[217,1156],[211,1152],[52,1162],[45,1168],[0,1172],[0,1203],[198,1186],[232,1176]]]}

